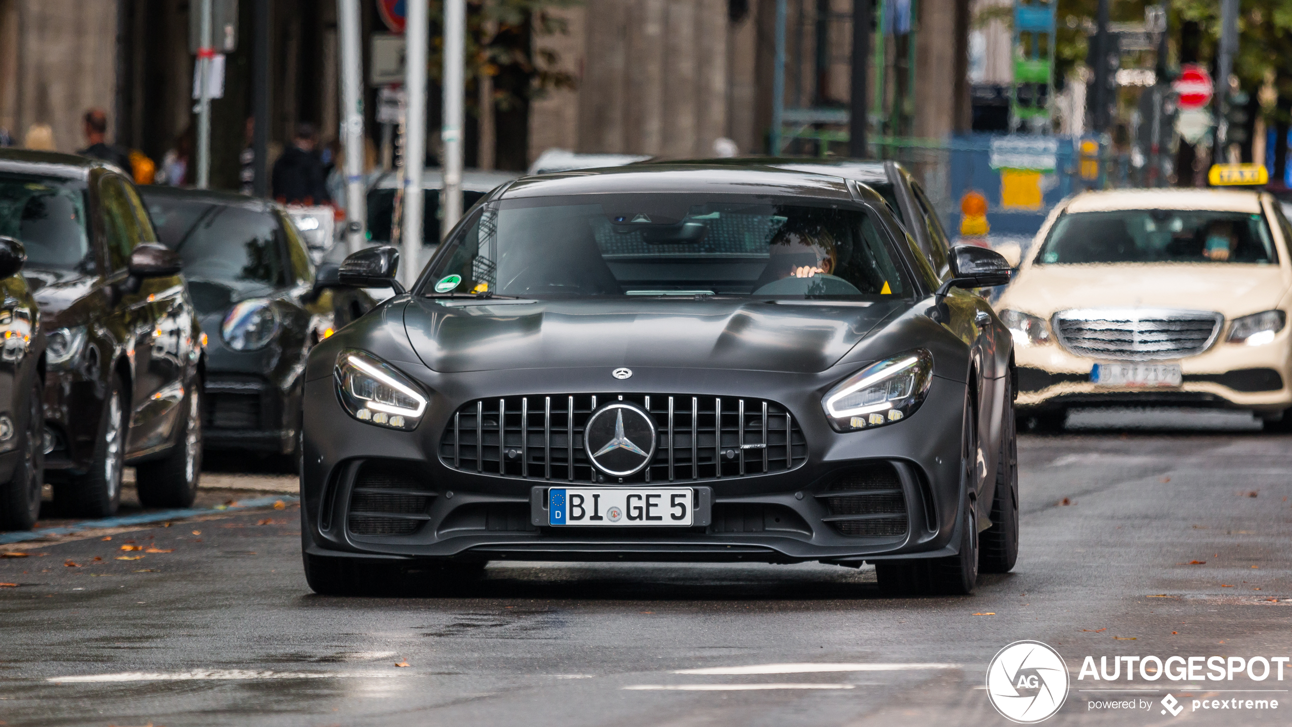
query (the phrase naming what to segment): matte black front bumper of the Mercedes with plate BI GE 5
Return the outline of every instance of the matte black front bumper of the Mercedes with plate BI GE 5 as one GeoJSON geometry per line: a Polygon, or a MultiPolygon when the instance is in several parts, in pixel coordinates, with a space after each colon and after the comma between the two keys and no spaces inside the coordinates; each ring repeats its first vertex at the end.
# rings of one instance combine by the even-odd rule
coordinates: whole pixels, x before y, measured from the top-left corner
{"type": "MultiPolygon", "coordinates": [[[[444,376],[425,368],[413,373],[402,363],[399,368],[433,391],[430,407],[413,431],[355,421],[337,402],[331,378],[306,384],[301,480],[306,553],[403,560],[823,560],[859,566],[884,558],[948,555],[955,553],[950,544],[959,542],[953,531],[963,501],[959,464],[964,384],[934,378],[928,399],[910,420],[839,434],[820,412],[819,391],[829,382],[815,376],[766,372],[681,376],[677,369],[634,369],[632,389],[624,389],[625,393],[699,390],[778,402],[801,426],[808,458],[788,471],[656,483],[707,488],[711,497],[707,524],[559,528],[535,523],[534,517],[545,489],[563,484],[559,473],[552,479],[478,474],[453,469],[438,456],[441,435],[460,405],[482,393],[517,396],[552,391],[552,373],[444,376]],[[357,486],[371,486],[372,480],[364,479],[373,476],[371,471],[386,476],[389,471],[381,467],[404,473],[415,483],[408,487],[424,495],[425,506],[419,510],[422,523],[411,532],[393,528],[399,532],[373,535],[371,527],[355,527],[358,517],[351,515],[351,505],[357,486]],[[828,520],[833,505],[824,493],[842,473],[866,467],[891,467],[895,473],[907,515],[903,535],[844,535],[828,520]]],[[[562,394],[578,393],[568,384],[571,373],[578,376],[561,372],[566,381],[557,390],[562,394]]],[[[597,373],[605,377],[603,371],[597,373]]],[[[402,497],[398,488],[382,492],[402,497]]]]}

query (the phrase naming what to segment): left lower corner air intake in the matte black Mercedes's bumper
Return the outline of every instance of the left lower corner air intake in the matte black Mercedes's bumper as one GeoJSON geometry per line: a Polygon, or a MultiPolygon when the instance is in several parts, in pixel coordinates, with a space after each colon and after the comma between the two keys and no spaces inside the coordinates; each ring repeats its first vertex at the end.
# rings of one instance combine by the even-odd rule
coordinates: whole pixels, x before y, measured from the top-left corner
{"type": "Polygon", "coordinates": [[[348,527],[354,535],[412,535],[430,519],[435,495],[415,465],[368,460],[354,478],[348,527]]]}

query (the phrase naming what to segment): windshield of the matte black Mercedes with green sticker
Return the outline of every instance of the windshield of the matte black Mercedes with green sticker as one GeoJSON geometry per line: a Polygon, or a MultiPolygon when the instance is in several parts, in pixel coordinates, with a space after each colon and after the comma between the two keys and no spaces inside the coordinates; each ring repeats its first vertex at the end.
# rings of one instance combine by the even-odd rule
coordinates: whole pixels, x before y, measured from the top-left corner
{"type": "Polygon", "coordinates": [[[426,294],[910,296],[866,212],[804,200],[603,194],[495,201],[450,240],[426,294]]]}

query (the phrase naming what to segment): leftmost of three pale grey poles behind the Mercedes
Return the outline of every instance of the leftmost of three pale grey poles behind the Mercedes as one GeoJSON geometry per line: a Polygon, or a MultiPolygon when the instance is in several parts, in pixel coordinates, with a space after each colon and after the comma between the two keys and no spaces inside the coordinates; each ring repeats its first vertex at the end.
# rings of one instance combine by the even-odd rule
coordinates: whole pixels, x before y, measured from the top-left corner
{"type": "Polygon", "coordinates": [[[367,199],[363,183],[363,53],[359,0],[337,0],[341,39],[341,139],[345,142],[345,247],[358,252],[367,241],[367,199]]]}

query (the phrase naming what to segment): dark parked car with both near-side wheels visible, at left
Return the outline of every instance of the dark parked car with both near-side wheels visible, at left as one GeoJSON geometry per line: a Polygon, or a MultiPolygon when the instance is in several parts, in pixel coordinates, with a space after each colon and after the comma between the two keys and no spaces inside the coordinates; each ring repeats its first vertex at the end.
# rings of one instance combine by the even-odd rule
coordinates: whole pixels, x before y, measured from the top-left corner
{"type": "Polygon", "coordinates": [[[180,258],[156,243],[134,185],[63,154],[0,150],[45,351],[45,479],[61,510],[186,506],[202,466],[202,343],[180,258]]]}

